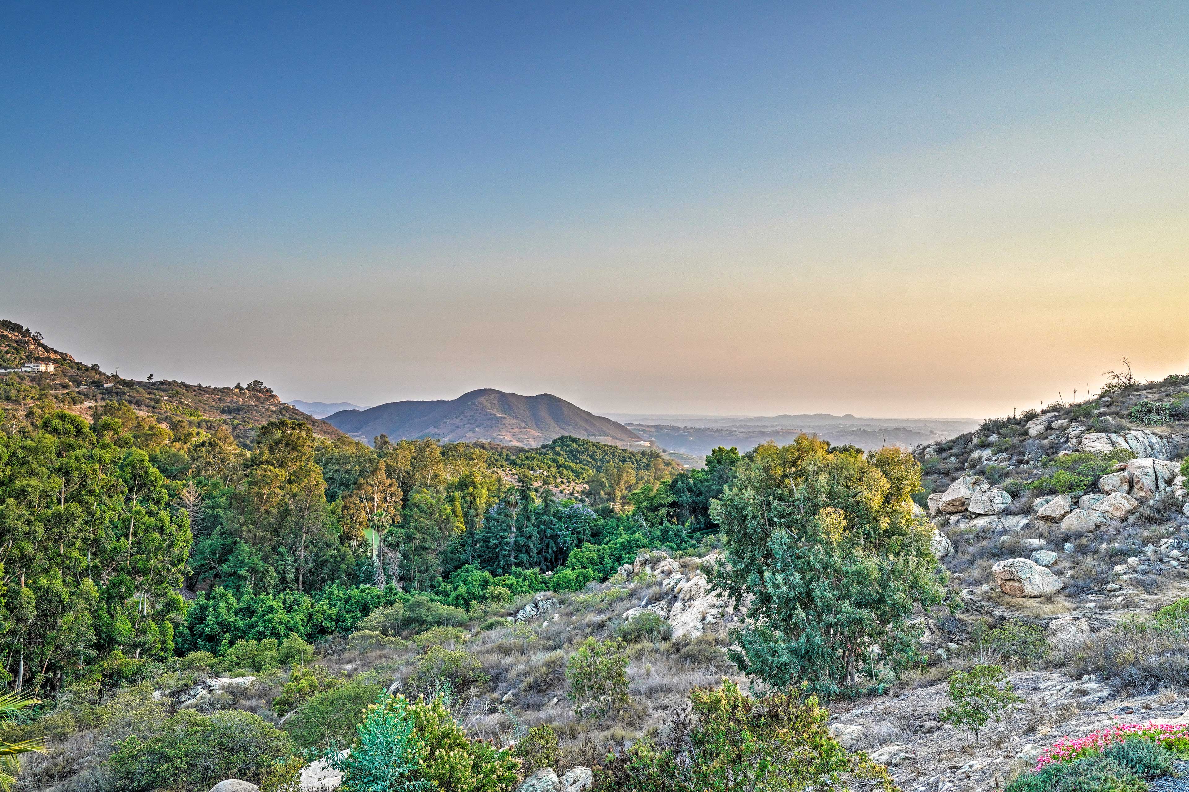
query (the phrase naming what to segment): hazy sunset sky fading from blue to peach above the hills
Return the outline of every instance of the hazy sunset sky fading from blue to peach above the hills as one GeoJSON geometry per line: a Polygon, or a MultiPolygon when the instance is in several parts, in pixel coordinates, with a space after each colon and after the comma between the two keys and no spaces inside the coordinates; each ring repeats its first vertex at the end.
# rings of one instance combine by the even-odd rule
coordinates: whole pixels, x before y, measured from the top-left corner
{"type": "Polygon", "coordinates": [[[984,417],[1189,368],[1183,0],[8,0],[0,80],[0,317],[127,376],[984,417]]]}

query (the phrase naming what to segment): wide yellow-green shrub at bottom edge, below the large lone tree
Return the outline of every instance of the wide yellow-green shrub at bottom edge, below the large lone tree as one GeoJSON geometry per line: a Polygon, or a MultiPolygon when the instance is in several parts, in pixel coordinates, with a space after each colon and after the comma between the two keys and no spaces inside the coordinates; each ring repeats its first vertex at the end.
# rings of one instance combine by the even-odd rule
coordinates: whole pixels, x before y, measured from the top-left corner
{"type": "Polygon", "coordinates": [[[640,740],[594,768],[594,790],[833,790],[844,775],[895,788],[887,769],[848,753],[826,730],[829,712],[801,691],[750,698],[730,682],[696,688],[661,736],[640,740]]]}

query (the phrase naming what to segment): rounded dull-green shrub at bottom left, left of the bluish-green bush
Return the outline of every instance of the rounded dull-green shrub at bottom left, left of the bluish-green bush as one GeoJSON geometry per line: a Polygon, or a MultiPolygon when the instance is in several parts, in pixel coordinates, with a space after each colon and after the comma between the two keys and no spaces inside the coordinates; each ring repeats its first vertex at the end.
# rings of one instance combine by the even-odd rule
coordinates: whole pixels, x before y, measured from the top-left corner
{"type": "Polygon", "coordinates": [[[288,756],[285,734],[243,710],[181,710],[151,734],[115,743],[108,767],[127,792],[206,792],[226,778],[256,781],[288,756]]]}

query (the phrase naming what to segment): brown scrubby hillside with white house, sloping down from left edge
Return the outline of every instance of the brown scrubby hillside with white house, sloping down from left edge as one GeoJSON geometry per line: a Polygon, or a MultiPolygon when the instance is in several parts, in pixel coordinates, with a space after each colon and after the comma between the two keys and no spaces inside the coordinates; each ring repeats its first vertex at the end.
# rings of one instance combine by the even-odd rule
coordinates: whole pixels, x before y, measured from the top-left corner
{"type": "Polygon", "coordinates": [[[260,382],[219,387],[124,379],[49,347],[39,332],[0,319],[0,368],[39,361],[52,362],[55,370],[0,374],[0,410],[10,417],[30,408],[61,408],[90,418],[96,405],[122,401],[171,431],[184,432],[185,426],[202,431],[226,427],[244,446],[251,443],[260,425],[277,418],[307,423],[319,437],[342,437],[342,432],[331,424],[284,404],[260,382]]]}

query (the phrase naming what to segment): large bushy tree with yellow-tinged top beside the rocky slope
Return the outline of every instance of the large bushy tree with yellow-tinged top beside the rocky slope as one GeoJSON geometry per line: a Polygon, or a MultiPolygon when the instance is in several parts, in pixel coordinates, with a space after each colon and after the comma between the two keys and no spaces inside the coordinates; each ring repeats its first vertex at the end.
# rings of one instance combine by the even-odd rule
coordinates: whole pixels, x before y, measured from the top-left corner
{"type": "Polygon", "coordinates": [[[744,671],[832,697],[860,685],[876,647],[882,661],[917,658],[908,617],[944,598],[931,527],[912,514],[919,488],[917,462],[894,448],[864,457],[803,436],[743,456],[711,514],[726,551],[718,582],[749,604],[744,671]]]}

